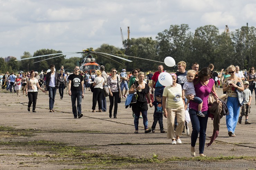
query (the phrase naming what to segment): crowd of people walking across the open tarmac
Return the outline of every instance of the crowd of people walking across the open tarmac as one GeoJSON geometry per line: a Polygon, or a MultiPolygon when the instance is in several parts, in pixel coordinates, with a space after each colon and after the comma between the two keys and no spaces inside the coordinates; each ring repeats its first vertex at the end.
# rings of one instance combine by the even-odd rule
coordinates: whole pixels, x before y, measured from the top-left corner
{"type": "MultiPolygon", "coordinates": [[[[139,118],[143,118],[145,133],[156,132],[156,124],[159,123],[161,133],[165,133],[163,116],[167,118],[167,139],[172,139],[171,144],[181,144],[180,138],[185,125],[185,111],[188,110],[192,123],[191,156],[195,156],[195,144],[199,135],[199,156],[204,156],[204,144],[206,138],[207,121],[209,117],[209,100],[215,99],[221,103],[216,88],[222,88],[223,98],[229,114],[226,116],[226,125],[229,137],[236,137],[235,128],[245,116],[245,124],[248,121],[253,90],[256,94],[255,68],[249,71],[239,71],[239,66],[230,65],[225,73],[222,69],[219,73],[214,71],[214,65],[199,69],[199,64],[194,62],[191,69],[186,70],[186,62],[177,63],[176,73],[170,73],[172,84],[163,86],[159,81],[159,75],[164,72],[162,65],[158,66],[154,74],[151,71],[142,72],[136,68],[127,73],[123,68],[120,73],[112,68],[110,73],[105,72],[104,66],[91,74],[83,72],[76,66],[73,72],[65,72],[62,66],[56,72],[54,64],[50,65],[48,72],[43,70],[25,73],[6,72],[0,75],[1,88],[12,93],[12,88],[17,96],[20,96],[22,88],[23,96],[27,95],[28,111],[33,103],[32,111],[36,112],[36,99],[38,90],[47,92],[49,96],[49,111],[54,111],[54,101],[57,89],[60,99],[63,99],[64,89],[71,96],[72,112],[74,119],[81,118],[82,98],[84,91],[92,91],[92,112],[107,112],[106,97],[109,97],[109,117],[117,118],[118,103],[121,98],[126,98],[126,108],[132,108],[135,132],[139,133],[139,118]],[[200,71],[199,71],[200,70],[200,71]],[[223,72],[223,74],[222,74],[223,72]],[[44,88],[44,90],[43,90],[44,88]],[[125,90],[125,91],[124,91],[125,90]],[[154,98],[150,96],[154,94],[154,98]],[[98,102],[98,109],[97,107],[98,102]],[[154,107],[154,122],[148,126],[148,104],[154,107]],[[241,112],[240,112],[241,108],[241,112]],[[240,117],[239,117],[240,112],[240,117]]],[[[256,102],[256,100],[255,100],[256,102]]]]}

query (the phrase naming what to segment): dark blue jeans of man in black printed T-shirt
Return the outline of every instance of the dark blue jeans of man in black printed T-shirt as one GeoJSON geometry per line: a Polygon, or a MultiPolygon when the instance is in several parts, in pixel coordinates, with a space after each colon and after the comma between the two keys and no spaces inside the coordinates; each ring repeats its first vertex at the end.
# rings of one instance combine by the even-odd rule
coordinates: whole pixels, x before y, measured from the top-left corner
{"type": "Polygon", "coordinates": [[[72,102],[72,112],[74,114],[74,117],[77,118],[77,113],[78,113],[78,116],[82,113],[82,107],[81,107],[82,91],[71,91],[71,102],[72,102]],[[75,106],[76,100],[77,100],[77,110],[75,106]]]}

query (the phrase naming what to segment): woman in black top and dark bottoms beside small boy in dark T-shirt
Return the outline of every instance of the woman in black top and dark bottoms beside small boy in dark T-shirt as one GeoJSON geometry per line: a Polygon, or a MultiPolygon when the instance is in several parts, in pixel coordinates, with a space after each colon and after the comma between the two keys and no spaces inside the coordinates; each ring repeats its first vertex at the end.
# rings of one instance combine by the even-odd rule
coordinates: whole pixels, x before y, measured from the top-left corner
{"type": "Polygon", "coordinates": [[[138,81],[136,81],[134,84],[131,85],[131,88],[129,90],[129,94],[132,93],[137,93],[137,102],[132,105],[132,111],[135,113],[135,118],[134,118],[134,126],[135,126],[135,132],[138,133],[138,125],[139,125],[139,113],[142,113],[143,117],[143,124],[144,124],[144,129],[145,133],[151,132],[151,129],[148,130],[148,119],[147,119],[147,110],[148,110],[148,105],[147,105],[147,99],[150,101],[149,105],[152,107],[152,101],[150,99],[149,95],[149,87],[146,83],[144,83],[144,78],[145,74],[144,72],[139,72],[138,75],[138,81]]]}

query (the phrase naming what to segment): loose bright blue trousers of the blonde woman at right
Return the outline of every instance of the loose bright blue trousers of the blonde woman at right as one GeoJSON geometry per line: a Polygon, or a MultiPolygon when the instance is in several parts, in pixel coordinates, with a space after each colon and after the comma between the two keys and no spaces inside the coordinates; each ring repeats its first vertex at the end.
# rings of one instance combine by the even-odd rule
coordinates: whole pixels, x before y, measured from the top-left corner
{"type": "Polygon", "coordinates": [[[232,133],[234,133],[236,129],[238,117],[239,117],[239,110],[240,110],[238,98],[228,97],[227,106],[229,111],[229,114],[226,115],[227,128],[228,128],[228,131],[232,131],[232,133]]]}

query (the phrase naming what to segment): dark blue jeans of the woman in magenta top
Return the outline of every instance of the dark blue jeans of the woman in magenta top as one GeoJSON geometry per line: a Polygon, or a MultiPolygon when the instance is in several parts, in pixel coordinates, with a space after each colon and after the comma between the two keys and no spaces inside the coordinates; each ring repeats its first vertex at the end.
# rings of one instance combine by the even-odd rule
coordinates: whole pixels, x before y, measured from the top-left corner
{"type": "Polygon", "coordinates": [[[189,109],[189,116],[192,124],[192,133],[191,133],[191,146],[195,147],[196,140],[199,133],[199,154],[204,151],[205,137],[206,137],[206,128],[208,121],[208,111],[202,112],[205,117],[197,116],[198,111],[194,109],[189,109]]]}

